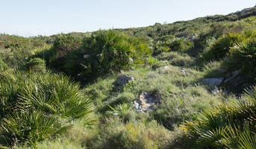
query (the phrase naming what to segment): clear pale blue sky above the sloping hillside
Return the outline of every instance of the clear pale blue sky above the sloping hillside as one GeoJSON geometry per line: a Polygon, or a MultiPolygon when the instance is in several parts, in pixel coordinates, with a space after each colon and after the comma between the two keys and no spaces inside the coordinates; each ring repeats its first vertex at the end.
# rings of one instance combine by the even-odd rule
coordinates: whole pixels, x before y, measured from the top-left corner
{"type": "Polygon", "coordinates": [[[0,33],[20,36],[132,28],[228,14],[255,0],[0,0],[0,33]]]}

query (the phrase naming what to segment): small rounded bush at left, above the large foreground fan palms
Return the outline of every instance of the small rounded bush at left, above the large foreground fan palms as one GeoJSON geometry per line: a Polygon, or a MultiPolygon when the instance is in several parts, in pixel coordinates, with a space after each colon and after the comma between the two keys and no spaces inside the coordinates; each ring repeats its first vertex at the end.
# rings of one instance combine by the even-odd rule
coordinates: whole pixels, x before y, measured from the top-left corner
{"type": "Polygon", "coordinates": [[[46,61],[40,58],[32,58],[26,66],[30,72],[46,72],[46,61]]]}

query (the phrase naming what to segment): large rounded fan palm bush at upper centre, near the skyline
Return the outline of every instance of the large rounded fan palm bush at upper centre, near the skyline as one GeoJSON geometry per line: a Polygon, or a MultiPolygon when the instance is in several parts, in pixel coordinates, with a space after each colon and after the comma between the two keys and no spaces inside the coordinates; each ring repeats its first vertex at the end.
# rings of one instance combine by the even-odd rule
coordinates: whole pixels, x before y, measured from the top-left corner
{"type": "Polygon", "coordinates": [[[97,75],[128,69],[132,63],[143,63],[143,58],[151,54],[140,40],[113,30],[96,31],[85,37],[83,47],[87,54],[87,72],[97,75]]]}

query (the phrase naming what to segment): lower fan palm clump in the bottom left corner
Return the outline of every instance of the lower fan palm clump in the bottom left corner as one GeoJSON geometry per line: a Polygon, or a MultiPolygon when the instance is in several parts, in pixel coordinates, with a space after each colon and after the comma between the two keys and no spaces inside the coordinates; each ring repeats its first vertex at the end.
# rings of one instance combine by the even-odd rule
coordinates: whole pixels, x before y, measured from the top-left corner
{"type": "Polygon", "coordinates": [[[1,139],[7,139],[7,142],[8,139],[16,139],[16,143],[40,142],[70,129],[71,125],[63,122],[68,123],[57,116],[46,116],[41,110],[14,112],[12,116],[7,115],[1,121],[1,128],[5,131],[1,132],[4,135],[1,139]]]}

